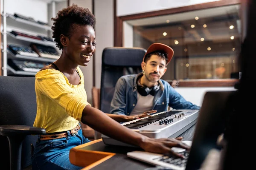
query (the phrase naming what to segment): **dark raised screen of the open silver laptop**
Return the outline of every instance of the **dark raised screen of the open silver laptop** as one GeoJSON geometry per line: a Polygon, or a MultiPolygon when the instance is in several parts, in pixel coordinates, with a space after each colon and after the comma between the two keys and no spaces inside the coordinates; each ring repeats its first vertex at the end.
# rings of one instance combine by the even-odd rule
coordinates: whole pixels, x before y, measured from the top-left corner
{"type": "Polygon", "coordinates": [[[213,148],[220,149],[218,136],[224,133],[236,91],[208,91],[204,95],[186,170],[198,170],[213,148]]]}

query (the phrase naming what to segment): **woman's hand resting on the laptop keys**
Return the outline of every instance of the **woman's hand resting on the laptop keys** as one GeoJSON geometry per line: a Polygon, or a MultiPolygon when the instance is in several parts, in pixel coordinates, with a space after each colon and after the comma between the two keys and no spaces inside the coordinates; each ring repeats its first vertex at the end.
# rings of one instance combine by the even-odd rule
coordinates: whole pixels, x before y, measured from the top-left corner
{"type": "Polygon", "coordinates": [[[172,147],[180,147],[186,150],[190,150],[190,146],[181,142],[182,139],[183,137],[168,139],[146,138],[145,141],[140,144],[140,147],[147,152],[170,154],[172,156],[177,156],[178,158],[184,158],[183,155],[180,155],[171,149],[172,147]]]}

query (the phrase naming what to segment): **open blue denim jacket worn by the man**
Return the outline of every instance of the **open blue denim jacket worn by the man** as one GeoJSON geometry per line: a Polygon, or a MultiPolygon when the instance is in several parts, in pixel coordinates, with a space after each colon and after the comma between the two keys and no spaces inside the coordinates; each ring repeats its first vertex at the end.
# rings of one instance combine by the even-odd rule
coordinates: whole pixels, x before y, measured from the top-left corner
{"type": "MultiPolygon", "coordinates": [[[[137,104],[137,79],[140,74],[125,75],[116,82],[116,89],[111,101],[112,114],[130,115],[137,104]]],[[[173,109],[200,109],[186,101],[175,89],[165,80],[160,79],[161,88],[154,96],[153,108],[157,113],[167,111],[168,106],[173,109]]]]}

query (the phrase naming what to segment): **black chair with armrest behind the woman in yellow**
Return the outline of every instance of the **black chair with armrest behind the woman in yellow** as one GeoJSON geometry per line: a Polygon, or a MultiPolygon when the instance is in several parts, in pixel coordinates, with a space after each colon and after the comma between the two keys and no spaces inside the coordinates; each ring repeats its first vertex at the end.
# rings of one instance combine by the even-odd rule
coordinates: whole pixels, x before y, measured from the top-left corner
{"type": "Polygon", "coordinates": [[[0,76],[0,169],[31,165],[31,146],[45,129],[33,127],[36,116],[35,77],[0,76]]]}

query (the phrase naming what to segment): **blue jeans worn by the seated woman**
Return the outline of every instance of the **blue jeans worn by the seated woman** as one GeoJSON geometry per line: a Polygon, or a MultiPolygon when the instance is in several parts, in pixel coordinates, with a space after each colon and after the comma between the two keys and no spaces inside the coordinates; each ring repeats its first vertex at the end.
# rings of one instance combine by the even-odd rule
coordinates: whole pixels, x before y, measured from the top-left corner
{"type": "Polygon", "coordinates": [[[32,159],[33,170],[80,170],[78,167],[70,163],[69,153],[72,147],[90,142],[85,138],[80,129],[76,135],[72,135],[68,131],[67,137],[53,140],[40,140],[35,144],[34,155],[32,159]]]}

